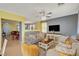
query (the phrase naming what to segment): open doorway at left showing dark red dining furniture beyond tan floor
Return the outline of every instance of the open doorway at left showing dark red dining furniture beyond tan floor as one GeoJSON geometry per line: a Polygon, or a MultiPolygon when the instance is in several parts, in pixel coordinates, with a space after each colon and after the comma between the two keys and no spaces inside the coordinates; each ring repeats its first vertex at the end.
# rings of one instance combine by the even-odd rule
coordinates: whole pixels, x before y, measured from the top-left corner
{"type": "MultiPolygon", "coordinates": [[[[20,52],[20,43],[22,41],[21,22],[2,19],[2,34],[3,33],[6,34],[6,39],[8,40],[5,55],[9,56],[21,55],[20,52]]],[[[3,38],[2,39],[2,45],[3,45],[4,37],[2,36],[2,38],[3,38]]]]}

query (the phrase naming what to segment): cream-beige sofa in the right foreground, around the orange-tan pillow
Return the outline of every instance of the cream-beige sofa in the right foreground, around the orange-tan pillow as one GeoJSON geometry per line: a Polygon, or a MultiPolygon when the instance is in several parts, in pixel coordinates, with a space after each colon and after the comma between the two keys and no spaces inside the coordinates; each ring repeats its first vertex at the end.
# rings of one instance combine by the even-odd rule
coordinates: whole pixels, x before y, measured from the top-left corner
{"type": "MultiPolygon", "coordinates": [[[[54,34],[53,34],[54,35],[54,34]]],[[[46,53],[47,56],[75,56],[79,55],[79,42],[73,39],[73,44],[71,49],[67,49],[63,43],[67,36],[54,35],[56,37],[57,45],[53,49],[49,49],[46,53]],[[69,52],[68,52],[69,51],[69,52]]]]}

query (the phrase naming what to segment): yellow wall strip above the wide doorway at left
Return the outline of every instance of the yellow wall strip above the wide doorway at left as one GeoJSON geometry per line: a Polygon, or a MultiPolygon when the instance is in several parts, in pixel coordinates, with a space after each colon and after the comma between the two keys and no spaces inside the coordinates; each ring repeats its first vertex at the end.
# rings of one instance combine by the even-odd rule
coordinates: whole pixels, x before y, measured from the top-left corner
{"type": "Polygon", "coordinates": [[[24,16],[18,16],[16,14],[13,13],[9,13],[9,12],[5,12],[5,11],[0,11],[0,16],[3,19],[7,19],[7,20],[14,20],[14,21],[25,21],[25,17],[24,16]]]}

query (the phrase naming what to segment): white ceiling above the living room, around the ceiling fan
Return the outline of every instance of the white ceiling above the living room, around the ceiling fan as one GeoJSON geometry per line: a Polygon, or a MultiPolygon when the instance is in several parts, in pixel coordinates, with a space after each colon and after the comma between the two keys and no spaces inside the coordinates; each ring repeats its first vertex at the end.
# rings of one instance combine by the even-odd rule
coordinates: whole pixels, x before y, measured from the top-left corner
{"type": "Polygon", "coordinates": [[[35,22],[40,20],[38,15],[41,10],[52,12],[51,18],[55,18],[77,13],[79,4],[65,3],[58,6],[57,3],[0,3],[0,10],[25,16],[27,21],[35,22]]]}

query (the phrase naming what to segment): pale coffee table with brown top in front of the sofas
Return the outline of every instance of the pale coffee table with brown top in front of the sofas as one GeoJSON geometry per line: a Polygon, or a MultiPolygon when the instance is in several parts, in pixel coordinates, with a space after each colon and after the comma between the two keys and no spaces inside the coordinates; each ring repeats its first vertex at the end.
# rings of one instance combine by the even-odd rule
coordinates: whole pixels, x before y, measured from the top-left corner
{"type": "Polygon", "coordinates": [[[45,49],[45,50],[48,50],[48,48],[50,48],[52,45],[54,44],[54,41],[53,39],[49,39],[48,41],[40,41],[39,42],[39,47],[45,49]]]}

